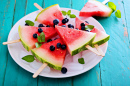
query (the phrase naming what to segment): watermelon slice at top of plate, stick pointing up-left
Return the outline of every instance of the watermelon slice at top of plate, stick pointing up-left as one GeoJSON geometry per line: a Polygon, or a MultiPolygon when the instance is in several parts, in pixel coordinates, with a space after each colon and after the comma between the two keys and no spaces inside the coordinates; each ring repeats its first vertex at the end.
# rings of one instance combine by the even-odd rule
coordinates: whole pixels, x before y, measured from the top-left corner
{"type": "Polygon", "coordinates": [[[61,13],[60,7],[58,4],[52,5],[44,10],[42,10],[36,17],[35,21],[38,21],[41,24],[53,26],[53,20],[58,19],[59,24],[62,25],[63,15],[61,13]]]}

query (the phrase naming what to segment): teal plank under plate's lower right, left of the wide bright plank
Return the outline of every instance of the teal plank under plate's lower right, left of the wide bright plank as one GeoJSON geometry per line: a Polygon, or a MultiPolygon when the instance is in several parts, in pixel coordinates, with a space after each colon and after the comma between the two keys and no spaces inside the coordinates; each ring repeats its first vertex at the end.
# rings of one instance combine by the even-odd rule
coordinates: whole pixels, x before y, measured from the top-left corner
{"type": "MultiPolygon", "coordinates": [[[[87,0],[72,0],[72,9],[81,10],[87,0]]],[[[74,86],[101,86],[100,63],[90,71],[73,78],[74,86]]]]}

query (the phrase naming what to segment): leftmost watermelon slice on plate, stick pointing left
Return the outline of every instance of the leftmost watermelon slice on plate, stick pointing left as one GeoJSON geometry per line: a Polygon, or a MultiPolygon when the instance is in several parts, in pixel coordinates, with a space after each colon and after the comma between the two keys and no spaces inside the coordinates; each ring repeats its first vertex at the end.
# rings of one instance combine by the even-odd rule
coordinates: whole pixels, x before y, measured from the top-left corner
{"type": "MultiPolygon", "coordinates": [[[[51,37],[57,35],[56,30],[53,27],[41,27],[45,34],[45,40],[50,39],[51,37]]],[[[37,39],[33,38],[33,34],[38,32],[38,27],[34,26],[19,26],[18,29],[19,36],[24,48],[27,51],[30,51],[32,48],[35,48],[35,43],[38,42],[37,39]]]]}

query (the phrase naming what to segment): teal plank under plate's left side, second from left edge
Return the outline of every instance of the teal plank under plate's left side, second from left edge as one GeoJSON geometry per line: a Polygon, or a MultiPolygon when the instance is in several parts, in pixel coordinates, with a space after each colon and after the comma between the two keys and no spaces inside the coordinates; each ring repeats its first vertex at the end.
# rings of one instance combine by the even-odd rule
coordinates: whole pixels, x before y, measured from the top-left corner
{"type": "MultiPolygon", "coordinates": [[[[26,10],[26,0],[16,1],[14,21],[13,25],[22,17],[25,16],[26,10]]],[[[5,74],[5,86],[27,86],[30,83],[32,85],[37,85],[37,79],[32,78],[32,74],[22,69],[18,64],[16,64],[12,57],[8,55],[8,63],[5,74]],[[24,83],[21,83],[24,82],[24,83]]]]}

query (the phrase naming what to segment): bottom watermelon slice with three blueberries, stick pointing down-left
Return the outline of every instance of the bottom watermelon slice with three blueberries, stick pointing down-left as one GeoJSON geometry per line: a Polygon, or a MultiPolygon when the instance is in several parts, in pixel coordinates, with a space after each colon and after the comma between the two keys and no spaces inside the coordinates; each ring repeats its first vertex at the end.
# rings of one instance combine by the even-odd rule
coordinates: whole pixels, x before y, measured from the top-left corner
{"type": "Polygon", "coordinates": [[[43,44],[40,48],[34,48],[31,52],[42,63],[46,62],[48,66],[56,70],[61,70],[66,55],[66,49],[62,50],[61,48],[57,48],[57,43],[63,44],[61,39],[57,39],[43,44]],[[55,46],[54,51],[50,50],[51,45],[55,46]]]}

